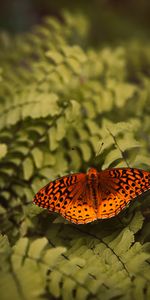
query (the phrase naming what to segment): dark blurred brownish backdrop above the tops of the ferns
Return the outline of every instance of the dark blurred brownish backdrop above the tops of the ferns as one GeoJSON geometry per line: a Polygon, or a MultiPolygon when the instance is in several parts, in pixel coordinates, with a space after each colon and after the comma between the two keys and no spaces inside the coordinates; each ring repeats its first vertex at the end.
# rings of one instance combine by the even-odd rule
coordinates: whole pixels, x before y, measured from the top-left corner
{"type": "Polygon", "coordinates": [[[149,37],[148,0],[1,0],[0,29],[12,33],[30,31],[47,15],[63,22],[64,10],[84,14],[90,19],[89,43],[93,46],[149,37]]]}

